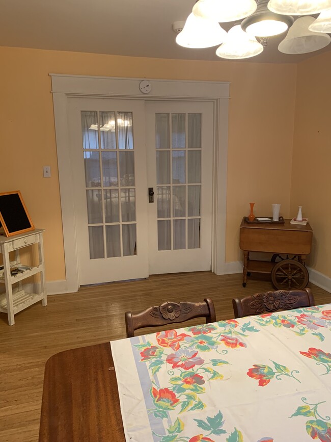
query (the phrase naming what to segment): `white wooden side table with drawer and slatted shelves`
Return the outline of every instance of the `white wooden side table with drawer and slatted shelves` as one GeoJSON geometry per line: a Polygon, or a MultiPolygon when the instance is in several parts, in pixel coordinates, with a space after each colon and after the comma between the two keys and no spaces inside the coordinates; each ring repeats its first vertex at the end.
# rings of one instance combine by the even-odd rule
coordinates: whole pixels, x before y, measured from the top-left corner
{"type": "Polygon", "coordinates": [[[0,311],[7,313],[8,324],[14,325],[14,315],[35,302],[42,301],[47,305],[47,294],[45,290],[45,266],[44,266],[44,247],[43,247],[44,229],[35,229],[29,232],[20,233],[12,237],[0,235],[0,247],[3,255],[3,269],[0,267],[0,292],[1,284],[5,284],[5,293],[0,294],[0,311]],[[23,247],[38,244],[39,263],[30,269],[15,275],[11,274],[11,269],[20,267],[19,250],[23,247]],[[14,261],[10,261],[9,253],[14,252],[14,261]],[[27,293],[22,288],[22,280],[29,276],[40,273],[40,291],[39,293],[27,293]],[[13,285],[15,284],[15,287],[13,285]]]}

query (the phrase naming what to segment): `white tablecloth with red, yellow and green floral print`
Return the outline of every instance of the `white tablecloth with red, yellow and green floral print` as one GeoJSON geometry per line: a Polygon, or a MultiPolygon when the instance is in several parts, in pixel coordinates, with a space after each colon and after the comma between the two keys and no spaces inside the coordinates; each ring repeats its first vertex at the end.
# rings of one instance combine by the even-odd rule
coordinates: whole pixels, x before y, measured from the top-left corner
{"type": "Polygon", "coordinates": [[[127,441],[331,441],[331,304],[111,347],[127,441]]]}

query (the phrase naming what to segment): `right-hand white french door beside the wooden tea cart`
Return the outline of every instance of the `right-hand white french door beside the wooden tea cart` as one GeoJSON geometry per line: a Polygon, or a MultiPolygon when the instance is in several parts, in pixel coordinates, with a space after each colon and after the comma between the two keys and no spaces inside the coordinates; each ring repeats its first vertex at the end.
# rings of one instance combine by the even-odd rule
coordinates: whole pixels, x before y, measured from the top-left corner
{"type": "Polygon", "coordinates": [[[149,273],[210,270],[213,106],[146,103],[149,273]]]}

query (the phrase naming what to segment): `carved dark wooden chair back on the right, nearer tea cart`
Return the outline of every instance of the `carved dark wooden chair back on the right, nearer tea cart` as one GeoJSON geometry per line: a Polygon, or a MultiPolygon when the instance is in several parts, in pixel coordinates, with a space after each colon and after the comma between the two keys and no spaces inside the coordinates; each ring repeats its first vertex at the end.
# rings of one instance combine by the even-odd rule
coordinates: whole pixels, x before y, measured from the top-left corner
{"type": "Polygon", "coordinates": [[[235,318],[272,313],[277,310],[290,310],[299,307],[315,305],[312,291],[304,290],[277,290],[274,292],[256,293],[242,299],[232,299],[235,318]]]}

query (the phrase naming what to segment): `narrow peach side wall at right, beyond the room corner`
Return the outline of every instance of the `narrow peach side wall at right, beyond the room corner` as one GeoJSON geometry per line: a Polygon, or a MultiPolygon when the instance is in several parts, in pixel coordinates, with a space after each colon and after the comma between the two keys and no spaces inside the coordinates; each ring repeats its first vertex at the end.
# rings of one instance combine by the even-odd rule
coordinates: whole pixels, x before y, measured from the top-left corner
{"type": "Polygon", "coordinates": [[[331,277],[331,53],[298,65],[291,215],[298,205],[314,230],[308,265],[331,277]]]}

